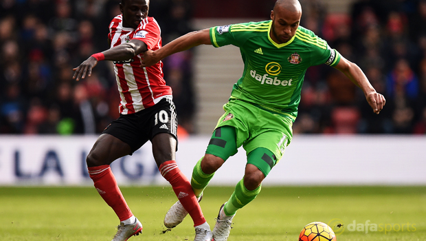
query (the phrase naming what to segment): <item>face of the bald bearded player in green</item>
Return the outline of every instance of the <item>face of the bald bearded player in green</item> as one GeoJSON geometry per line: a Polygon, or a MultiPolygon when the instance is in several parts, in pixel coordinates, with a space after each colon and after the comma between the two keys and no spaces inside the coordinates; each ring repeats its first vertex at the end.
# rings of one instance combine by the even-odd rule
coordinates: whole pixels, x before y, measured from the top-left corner
{"type": "Polygon", "coordinates": [[[271,11],[271,39],[276,43],[287,43],[298,30],[302,12],[291,12],[284,8],[271,11]]]}

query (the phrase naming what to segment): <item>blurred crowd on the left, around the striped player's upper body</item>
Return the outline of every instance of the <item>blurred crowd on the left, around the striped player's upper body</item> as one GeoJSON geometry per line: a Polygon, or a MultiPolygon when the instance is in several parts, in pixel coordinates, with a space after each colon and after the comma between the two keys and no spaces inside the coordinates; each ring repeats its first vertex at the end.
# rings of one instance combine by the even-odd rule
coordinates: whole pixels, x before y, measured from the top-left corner
{"type": "MultiPolygon", "coordinates": [[[[109,48],[109,23],[120,0],[0,1],[0,133],[94,134],[119,116],[120,96],[109,61],[90,78],[72,79],[91,54],[109,48]]],[[[191,6],[185,0],[150,3],[150,16],[163,44],[190,32],[191,6]]],[[[173,89],[180,129],[192,132],[191,53],[166,59],[165,78],[173,89]]]]}

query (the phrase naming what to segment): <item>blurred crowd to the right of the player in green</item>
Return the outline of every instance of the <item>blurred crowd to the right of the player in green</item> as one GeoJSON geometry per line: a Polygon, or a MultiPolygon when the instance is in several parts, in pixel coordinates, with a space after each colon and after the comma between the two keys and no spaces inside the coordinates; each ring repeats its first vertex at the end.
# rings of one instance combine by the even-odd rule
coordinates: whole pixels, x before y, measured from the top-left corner
{"type": "Polygon", "coordinates": [[[300,0],[301,25],[357,63],[386,98],[372,112],[344,74],[320,65],[306,72],[296,133],[426,134],[426,1],[354,1],[328,14],[326,1],[300,0]]]}

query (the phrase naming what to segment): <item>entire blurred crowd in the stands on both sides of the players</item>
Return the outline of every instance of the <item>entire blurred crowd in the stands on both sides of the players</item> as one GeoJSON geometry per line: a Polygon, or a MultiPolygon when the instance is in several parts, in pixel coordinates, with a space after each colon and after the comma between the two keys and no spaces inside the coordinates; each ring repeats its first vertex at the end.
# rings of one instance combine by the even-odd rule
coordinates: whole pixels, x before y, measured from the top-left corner
{"type": "MultiPolygon", "coordinates": [[[[300,0],[301,25],[357,63],[384,94],[376,115],[348,78],[326,65],[306,72],[295,133],[426,134],[426,0],[355,1],[330,14],[324,1],[300,0]]],[[[117,118],[120,96],[112,64],[90,78],[73,67],[109,48],[108,25],[120,0],[0,2],[0,134],[98,134],[117,118]]],[[[163,45],[192,31],[189,0],[155,0],[150,16],[163,45]]],[[[265,19],[269,12],[265,13],[265,19]]],[[[192,52],[164,60],[181,130],[194,129],[192,52]]]]}

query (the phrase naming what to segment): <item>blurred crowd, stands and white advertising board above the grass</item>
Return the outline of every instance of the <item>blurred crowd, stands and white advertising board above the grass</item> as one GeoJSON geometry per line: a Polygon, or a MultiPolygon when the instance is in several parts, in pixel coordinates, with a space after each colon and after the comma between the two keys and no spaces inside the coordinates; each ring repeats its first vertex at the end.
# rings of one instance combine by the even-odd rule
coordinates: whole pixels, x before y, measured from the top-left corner
{"type": "MultiPolygon", "coordinates": [[[[426,185],[426,1],[300,1],[301,25],[357,63],[387,102],[375,115],[346,76],[326,65],[311,67],[285,164],[266,180],[426,185]],[[332,175],[321,175],[327,171],[332,175]]],[[[1,1],[0,185],[91,185],[85,155],[119,115],[119,96],[111,63],[98,63],[90,78],[78,82],[72,68],[108,48],[108,25],[120,14],[119,2],[1,1]]],[[[159,22],[165,45],[192,30],[267,20],[274,2],[152,0],[149,15],[159,22]]],[[[232,46],[199,46],[164,59],[179,118],[177,158],[187,176],[242,70],[232,46]]],[[[241,171],[243,152],[235,164],[241,171]]],[[[164,182],[149,145],[114,165],[120,183],[164,182]]],[[[220,174],[229,179],[217,178],[218,184],[240,180],[242,174],[229,167],[220,174]]]]}

